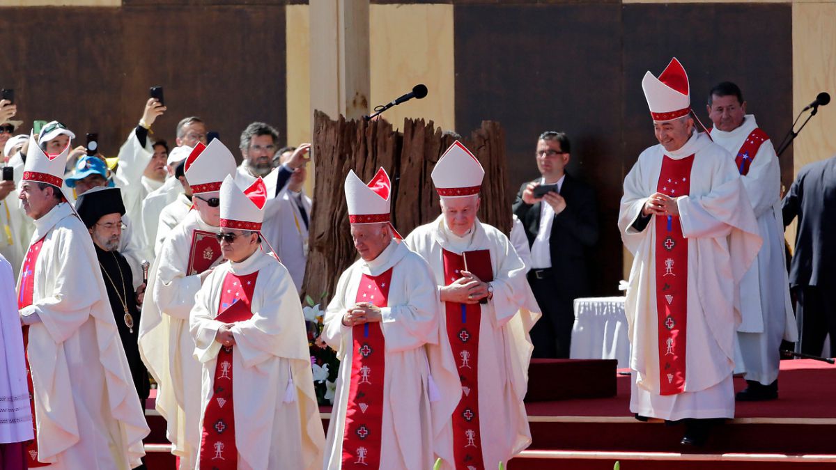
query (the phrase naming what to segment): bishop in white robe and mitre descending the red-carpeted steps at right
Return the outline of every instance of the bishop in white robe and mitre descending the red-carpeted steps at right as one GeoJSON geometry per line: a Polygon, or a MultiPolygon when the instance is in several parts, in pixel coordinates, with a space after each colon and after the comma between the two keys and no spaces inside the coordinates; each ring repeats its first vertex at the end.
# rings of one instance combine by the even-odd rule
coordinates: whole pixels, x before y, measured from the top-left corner
{"type": "Polygon", "coordinates": [[[619,229],[634,255],[627,290],[630,411],[684,420],[685,445],[734,416],[739,285],[761,247],[734,159],[695,129],[685,69],[642,80],[658,146],[624,180],[619,229]]]}

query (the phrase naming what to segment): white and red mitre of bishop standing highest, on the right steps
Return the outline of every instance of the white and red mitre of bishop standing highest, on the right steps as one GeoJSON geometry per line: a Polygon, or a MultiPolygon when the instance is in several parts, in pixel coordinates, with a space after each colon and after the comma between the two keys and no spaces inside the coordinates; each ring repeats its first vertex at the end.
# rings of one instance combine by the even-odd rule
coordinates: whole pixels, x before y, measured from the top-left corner
{"type": "Polygon", "coordinates": [[[650,72],[645,73],[641,88],[645,90],[650,115],[657,122],[675,120],[691,112],[688,74],[676,58],[670,59],[658,79],[650,72]]]}

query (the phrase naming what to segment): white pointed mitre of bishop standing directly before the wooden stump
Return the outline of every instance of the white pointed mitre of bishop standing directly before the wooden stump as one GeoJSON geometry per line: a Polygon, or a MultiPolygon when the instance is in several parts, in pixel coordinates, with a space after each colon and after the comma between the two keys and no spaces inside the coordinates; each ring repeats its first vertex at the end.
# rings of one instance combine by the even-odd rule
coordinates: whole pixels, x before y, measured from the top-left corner
{"type": "Polygon", "coordinates": [[[485,170],[471,151],[456,140],[432,169],[432,183],[441,197],[479,194],[485,170]]]}

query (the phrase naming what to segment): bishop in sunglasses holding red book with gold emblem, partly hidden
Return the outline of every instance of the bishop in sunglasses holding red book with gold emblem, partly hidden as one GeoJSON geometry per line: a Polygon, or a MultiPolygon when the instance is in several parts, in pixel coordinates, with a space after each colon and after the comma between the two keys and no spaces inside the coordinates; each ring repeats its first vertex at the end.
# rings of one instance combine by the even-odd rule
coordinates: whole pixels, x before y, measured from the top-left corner
{"type": "Polygon", "coordinates": [[[201,363],[189,314],[195,294],[222,262],[217,242],[221,183],[235,172],[235,158],[221,140],[198,143],[186,158],[195,211],[171,230],[151,268],[142,305],[140,355],[157,382],[156,409],[166,418],[180,468],[194,468],[201,441],[201,363]]]}

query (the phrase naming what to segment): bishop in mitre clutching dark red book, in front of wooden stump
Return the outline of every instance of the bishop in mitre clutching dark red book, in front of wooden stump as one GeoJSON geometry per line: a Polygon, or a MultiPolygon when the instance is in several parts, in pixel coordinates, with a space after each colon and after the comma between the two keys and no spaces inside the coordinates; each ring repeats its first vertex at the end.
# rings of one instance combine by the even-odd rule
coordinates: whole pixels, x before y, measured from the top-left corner
{"type": "Polygon", "coordinates": [[[531,296],[523,260],[502,232],[477,219],[484,176],[456,140],[432,171],[441,216],[405,239],[430,264],[439,289],[442,335],[463,394],[436,452],[443,467],[462,470],[507,464],[531,442],[523,397],[533,351],[528,331],[539,315],[523,308],[531,296]]]}

